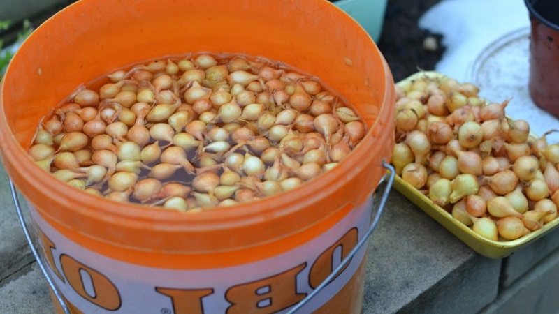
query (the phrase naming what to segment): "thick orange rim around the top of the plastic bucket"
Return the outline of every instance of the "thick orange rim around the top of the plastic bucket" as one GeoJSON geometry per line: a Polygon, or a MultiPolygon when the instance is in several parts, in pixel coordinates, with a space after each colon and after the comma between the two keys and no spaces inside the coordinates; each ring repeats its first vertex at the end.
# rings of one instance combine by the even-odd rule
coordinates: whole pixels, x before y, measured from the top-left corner
{"type": "MultiPolygon", "coordinates": [[[[22,43],[20,49],[25,49],[27,44],[34,40],[36,36],[39,36],[41,31],[48,27],[48,25],[52,22],[57,20],[57,16],[64,13],[66,10],[73,10],[77,6],[80,5],[80,2],[85,1],[78,1],[72,3],[70,6],[64,8],[63,10],[59,11],[55,16],[50,18],[50,20],[46,21],[45,23],[41,24],[31,35],[22,43]]],[[[11,70],[13,67],[8,66],[6,69],[6,75],[3,77],[3,80],[0,84],[0,129],[3,129],[3,132],[0,132],[0,138],[3,137],[3,140],[0,141],[0,156],[3,157],[2,162],[6,165],[7,163],[13,163],[10,165],[8,174],[11,174],[10,177],[13,179],[14,184],[16,187],[19,188],[20,180],[23,179],[24,176],[29,177],[30,179],[34,179],[34,183],[39,186],[40,188],[44,188],[46,191],[61,191],[66,190],[64,197],[68,197],[68,200],[64,200],[61,202],[71,202],[71,203],[79,203],[79,202],[87,202],[87,203],[96,203],[97,207],[99,207],[98,211],[93,211],[91,209],[83,209],[80,207],[73,207],[74,211],[80,211],[81,214],[85,216],[94,216],[96,219],[106,219],[110,221],[114,221],[118,218],[126,218],[131,220],[136,220],[138,222],[144,222],[148,224],[152,223],[168,223],[169,225],[175,225],[177,227],[184,227],[184,225],[188,225],[189,228],[200,229],[204,230],[207,228],[215,229],[216,222],[227,222],[227,223],[239,223],[241,225],[245,225],[247,223],[257,222],[259,220],[263,220],[265,216],[273,215],[273,216],[287,216],[292,214],[294,211],[298,211],[301,208],[305,207],[305,204],[309,202],[313,202],[312,199],[308,197],[308,195],[313,194],[321,194],[324,193],[325,190],[331,190],[335,188],[335,186],[339,186],[343,184],[347,177],[354,177],[358,172],[361,171],[361,168],[358,165],[358,160],[361,158],[365,158],[366,156],[370,155],[369,151],[366,151],[364,148],[364,144],[366,142],[371,142],[369,144],[370,147],[375,146],[375,142],[377,140],[391,140],[393,137],[393,132],[386,132],[391,133],[383,134],[382,127],[384,125],[383,119],[391,119],[390,112],[391,106],[393,105],[393,99],[395,97],[395,91],[393,90],[393,77],[391,74],[391,70],[389,68],[388,63],[384,59],[382,53],[379,51],[375,41],[369,36],[369,34],[360,26],[358,25],[347,13],[343,10],[335,6],[335,4],[329,1],[320,1],[314,0],[317,5],[324,6],[324,8],[328,8],[331,10],[336,10],[337,14],[343,16],[346,19],[351,19],[354,23],[354,27],[358,27],[364,35],[364,38],[368,38],[368,44],[372,45],[372,48],[377,53],[379,60],[382,63],[383,71],[386,75],[384,77],[384,84],[386,87],[384,89],[384,98],[382,100],[382,104],[379,105],[379,114],[375,122],[372,123],[371,126],[368,127],[368,131],[361,140],[361,143],[351,151],[351,153],[345,158],[336,168],[344,170],[344,172],[340,171],[328,171],[321,176],[312,179],[312,181],[305,182],[302,186],[294,189],[289,190],[287,192],[281,193],[279,195],[265,197],[263,200],[258,200],[254,202],[248,202],[246,204],[239,204],[232,207],[215,207],[213,209],[204,209],[199,212],[195,213],[184,213],[180,211],[161,211],[161,209],[151,209],[150,207],[146,207],[140,204],[133,204],[133,203],[119,203],[112,200],[107,200],[103,197],[98,197],[96,195],[90,195],[85,193],[81,190],[69,188],[67,184],[57,180],[55,177],[52,176],[43,176],[43,170],[41,170],[38,165],[36,165],[31,158],[21,158],[22,154],[27,155],[27,152],[24,151],[23,147],[20,146],[19,142],[7,128],[8,121],[6,120],[6,115],[4,114],[4,107],[3,107],[3,91],[6,79],[10,77],[11,70]],[[4,132],[6,131],[6,132],[4,132]],[[6,147],[6,142],[10,142],[11,144],[15,144],[17,146],[17,150],[13,151],[12,149],[8,149],[6,147]],[[20,171],[24,171],[24,173],[16,173],[15,168],[17,166],[20,167],[20,171]],[[14,171],[11,171],[14,170],[14,171]],[[348,175],[350,174],[350,175],[348,175]],[[331,185],[330,183],[335,183],[335,185],[331,185]],[[275,204],[273,207],[266,207],[263,206],[266,203],[275,204]],[[286,208],[278,210],[279,206],[290,204],[291,206],[286,206],[286,208]],[[295,206],[293,206],[293,204],[295,206]],[[100,212],[99,212],[100,211],[100,212]],[[100,218],[99,214],[103,213],[102,218],[100,218]],[[105,217],[109,216],[109,217],[105,217]],[[208,223],[206,225],[205,223],[208,223]]],[[[17,52],[15,55],[17,58],[17,52]]],[[[382,90],[382,88],[379,88],[382,90]]],[[[385,143],[377,143],[384,145],[385,143]]],[[[380,156],[377,160],[377,165],[380,171],[382,171],[382,161],[383,158],[389,160],[391,156],[391,149],[386,151],[385,156],[380,156]]],[[[8,171],[8,169],[6,169],[8,171]]],[[[44,173],[46,174],[46,173],[44,173]]],[[[379,174],[379,178],[382,177],[379,174]]],[[[377,180],[379,181],[379,180],[377,180]]],[[[375,190],[376,186],[371,186],[370,191],[375,190]]],[[[27,201],[29,199],[26,197],[27,201]]],[[[355,200],[356,202],[360,202],[361,200],[355,200]]]]}

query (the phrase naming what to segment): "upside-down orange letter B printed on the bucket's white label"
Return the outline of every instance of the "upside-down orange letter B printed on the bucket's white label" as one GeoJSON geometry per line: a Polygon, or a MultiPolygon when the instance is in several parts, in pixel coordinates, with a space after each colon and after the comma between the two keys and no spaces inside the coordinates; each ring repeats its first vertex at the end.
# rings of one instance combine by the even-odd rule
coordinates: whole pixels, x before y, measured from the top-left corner
{"type": "Polygon", "coordinates": [[[296,277],[306,265],[300,264],[273,277],[229,288],[225,294],[227,301],[231,302],[227,314],[275,313],[297,304],[306,294],[297,293],[296,277]]]}

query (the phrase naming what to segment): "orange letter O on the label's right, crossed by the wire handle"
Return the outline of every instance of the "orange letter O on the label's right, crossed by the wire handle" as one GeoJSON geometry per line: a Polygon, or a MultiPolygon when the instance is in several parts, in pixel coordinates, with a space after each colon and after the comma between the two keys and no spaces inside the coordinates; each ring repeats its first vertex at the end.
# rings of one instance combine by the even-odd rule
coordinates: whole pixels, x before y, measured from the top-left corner
{"type": "MultiPolygon", "coordinates": [[[[322,281],[324,281],[324,279],[328,277],[328,275],[332,274],[332,271],[335,269],[336,265],[339,265],[342,262],[342,260],[344,260],[344,258],[347,256],[347,254],[349,254],[349,252],[351,252],[351,250],[356,246],[356,244],[357,244],[357,229],[353,228],[349,230],[346,234],[344,234],[344,236],[341,239],[337,240],[337,242],[333,244],[333,246],[326,249],[326,251],[324,251],[324,253],[322,253],[319,256],[319,258],[317,258],[317,260],[314,261],[314,263],[312,264],[312,267],[309,272],[310,286],[313,289],[318,287],[318,285],[320,285],[322,281]],[[338,247],[341,248],[341,254],[340,254],[341,256],[340,256],[340,261],[335,264],[334,252],[335,249],[338,247]]],[[[349,265],[349,263],[346,264],[346,267],[347,265],[349,265]]],[[[344,267],[344,269],[340,271],[340,274],[342,273],[342,271],[346,269],[346,267],[344,267]]]]}

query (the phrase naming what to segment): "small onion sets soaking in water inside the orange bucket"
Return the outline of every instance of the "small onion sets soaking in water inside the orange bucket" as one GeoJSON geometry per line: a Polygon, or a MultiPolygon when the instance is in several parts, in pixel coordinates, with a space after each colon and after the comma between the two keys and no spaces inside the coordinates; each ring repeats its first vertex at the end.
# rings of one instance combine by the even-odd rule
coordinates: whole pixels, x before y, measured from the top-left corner
{"type": "Polygon", "coordinates": [[[199,211],[284,193],[365,136],[334,91],[283,63],[199,53],[80,86],[36,130],[29,156],[86,193],[199,211]]]}

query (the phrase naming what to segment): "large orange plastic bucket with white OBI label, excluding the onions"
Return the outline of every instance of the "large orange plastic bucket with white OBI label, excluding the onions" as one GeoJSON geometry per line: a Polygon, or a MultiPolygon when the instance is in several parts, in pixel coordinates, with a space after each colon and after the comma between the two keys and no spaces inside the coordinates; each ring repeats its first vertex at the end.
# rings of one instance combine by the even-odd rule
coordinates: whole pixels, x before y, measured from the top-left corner
{"type": "MultiPolygon", "coordinates": [[[[391,72],[368,34],[323,0],[82,0],[38,27],[0,89],[3,165],[75,313],[284,313],[362,239],[393,147],[391,72]],[[335,169],[276,197],[196,214],[120,204],[46,175],[26,150],[78,86],[148,59],[232,52],[319,77],[368,125],[335,169]]],[[[298,313],[360,313],[366,249],[298,313]]],[[[60,311],[60,309],[59,309],[60,311]]]]}

